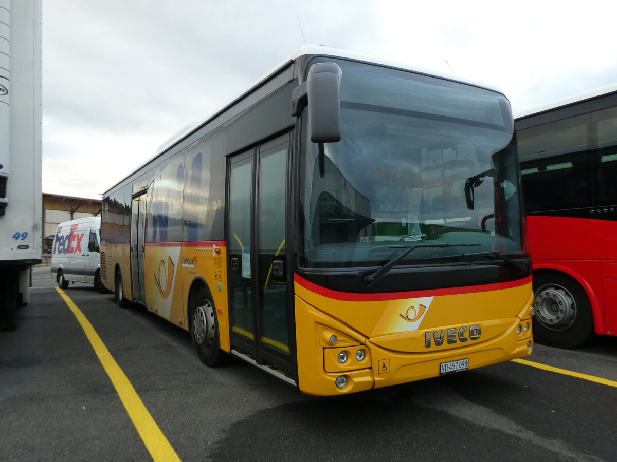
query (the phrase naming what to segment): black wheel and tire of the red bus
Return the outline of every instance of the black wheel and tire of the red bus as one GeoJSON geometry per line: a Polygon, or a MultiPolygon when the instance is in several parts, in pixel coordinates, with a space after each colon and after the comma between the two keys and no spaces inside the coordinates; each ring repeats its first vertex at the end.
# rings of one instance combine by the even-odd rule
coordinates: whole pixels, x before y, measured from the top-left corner
{"type": "Polygon", "coordinates": [[[573,348],[594,339],[594,313],[587,293],[568,275],[534,274],[532,318],[534,340],[553,347],[573,348]]]}

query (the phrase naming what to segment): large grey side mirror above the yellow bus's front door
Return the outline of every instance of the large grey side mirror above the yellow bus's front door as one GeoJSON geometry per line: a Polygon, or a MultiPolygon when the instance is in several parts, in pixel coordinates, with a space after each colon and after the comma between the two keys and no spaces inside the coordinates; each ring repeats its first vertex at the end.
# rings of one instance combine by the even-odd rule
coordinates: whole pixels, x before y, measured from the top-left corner
{"type": "Polygon", "coordinates": [[[309,130],[313,143],[341,140],[342,75],[335,63],[316,63],[309,69],[309,130]]]}

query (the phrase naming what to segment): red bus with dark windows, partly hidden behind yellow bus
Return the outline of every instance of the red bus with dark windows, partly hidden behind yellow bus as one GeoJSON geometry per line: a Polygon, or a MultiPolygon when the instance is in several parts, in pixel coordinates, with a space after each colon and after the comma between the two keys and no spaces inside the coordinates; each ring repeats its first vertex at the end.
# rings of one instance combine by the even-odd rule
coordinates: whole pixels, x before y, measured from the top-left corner
{"type": "Polygon", "coordinates": [[[617,84],[516,116],[534,338],[617,333],[617,84]]]}

